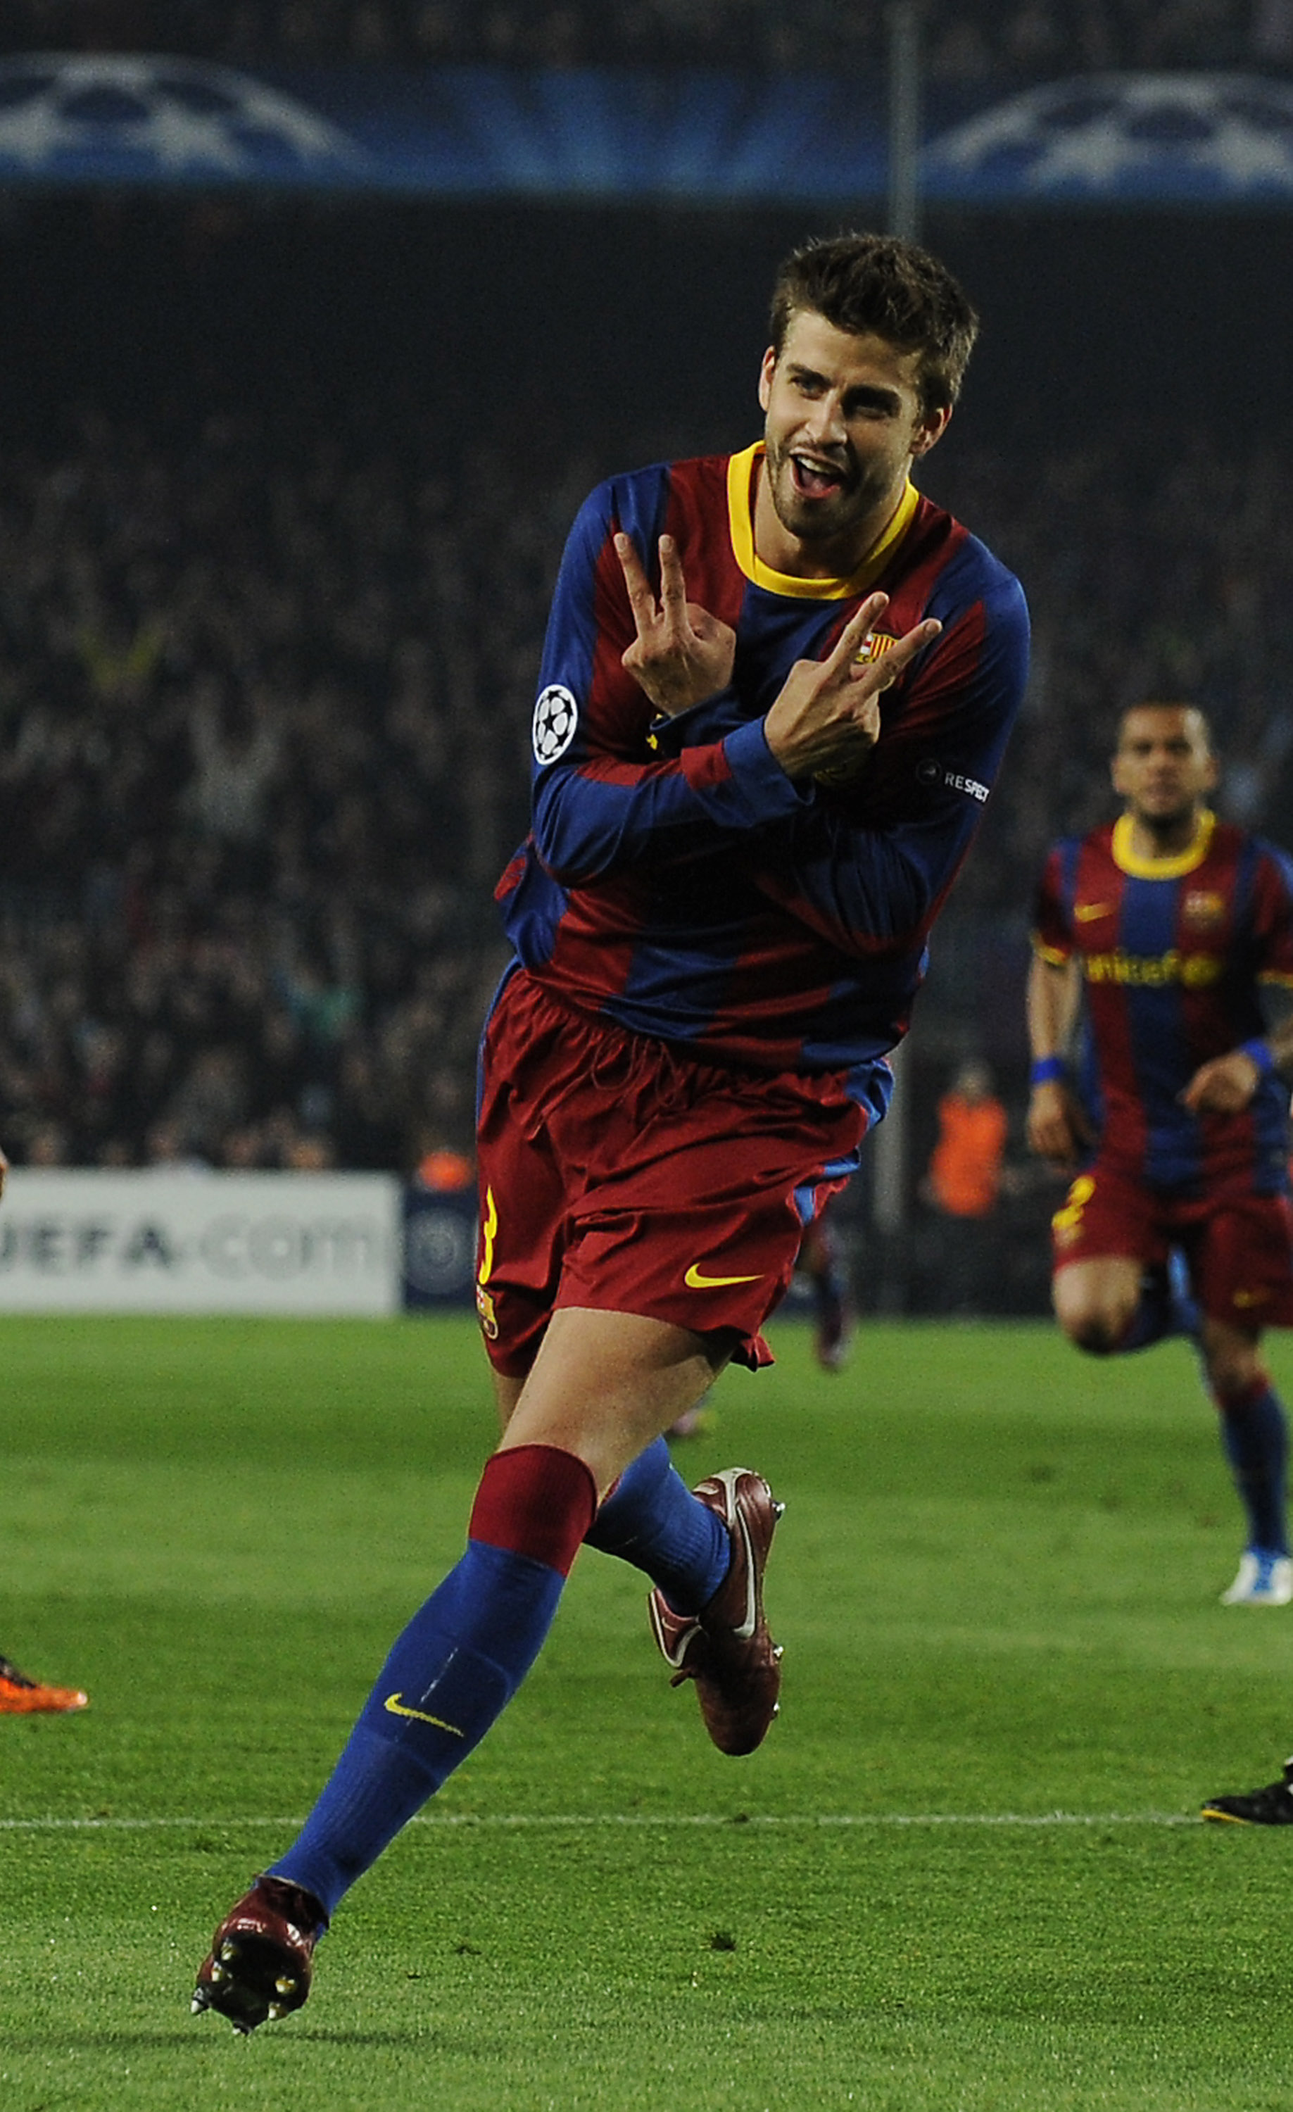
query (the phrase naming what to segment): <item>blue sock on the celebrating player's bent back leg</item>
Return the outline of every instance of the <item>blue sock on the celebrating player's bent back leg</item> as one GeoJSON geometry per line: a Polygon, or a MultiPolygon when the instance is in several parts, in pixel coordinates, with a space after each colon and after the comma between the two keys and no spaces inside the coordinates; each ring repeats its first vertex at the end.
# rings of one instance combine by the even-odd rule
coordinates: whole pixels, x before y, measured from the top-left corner
{"type": "Polygon", "coordinates": [[[691,1493],[663,1438],[638,1453],[583,1535],[659,1584],[676,1614],[699,1614],[731,1565],[731,1538],[691,1493]]]}

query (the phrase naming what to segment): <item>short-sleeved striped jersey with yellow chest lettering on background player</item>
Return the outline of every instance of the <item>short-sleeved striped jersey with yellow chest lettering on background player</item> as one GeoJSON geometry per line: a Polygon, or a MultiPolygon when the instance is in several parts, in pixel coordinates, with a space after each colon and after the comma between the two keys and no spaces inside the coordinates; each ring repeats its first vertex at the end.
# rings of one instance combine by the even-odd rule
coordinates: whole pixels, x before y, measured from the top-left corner
{"type": "Polygon", "coordinates": [[[1261,982],[1293,986],[1293,862],[1204,813],[1187,851],[1141,860],[1124,815],[1054,847],[1037,900],[1046,961],[1080,961],[1082,1090],[1101,1157],[1154,1187],[1287,1183],[1289,1088],[1242,1115],[1192,1115],[1194,1071],[1263,1031],[1261,982]]]}

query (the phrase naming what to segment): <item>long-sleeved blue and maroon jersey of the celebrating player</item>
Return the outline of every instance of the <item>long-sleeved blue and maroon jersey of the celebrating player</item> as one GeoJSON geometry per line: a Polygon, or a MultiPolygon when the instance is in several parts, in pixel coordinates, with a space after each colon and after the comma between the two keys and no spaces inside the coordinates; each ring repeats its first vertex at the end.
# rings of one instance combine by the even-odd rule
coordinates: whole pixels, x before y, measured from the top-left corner
{"type": "Polygon", "coordinates": [[[518,959],[566,1001],[712,1060],[873,1069],[906,1029],[925,936],[1006,748],[1027,665],[1012,574],[906,488],[851,579],[754,553],[763,448],[613,477],[583,505],[535,708],[532,832],[499,883],[518,959]],[[687,598],[735,629],[729,689],[674,720],[621,665],[634,621],[613,534],[653,585],[678,543],[687,598]],[[942,636],[881,701],[856,781],[792,784],[763,716],[862,596],[870,653],[921,617],[942,636]]]}

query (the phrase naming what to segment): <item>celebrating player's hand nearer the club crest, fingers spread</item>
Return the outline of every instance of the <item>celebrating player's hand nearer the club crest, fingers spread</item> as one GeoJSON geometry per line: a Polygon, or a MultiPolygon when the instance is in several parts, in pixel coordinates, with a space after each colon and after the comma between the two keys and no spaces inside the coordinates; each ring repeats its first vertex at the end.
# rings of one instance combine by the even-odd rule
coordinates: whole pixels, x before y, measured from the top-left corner
{"type": "Polygon", "coordinates": [[[881,693],[942,629],[927,617],[879,659],[858,659],[887,606],[887,593],[868,593],[824,661],[794,661],[763,720],[767,746],[786,777],[816,777],[818,771],[860,762],[875,748],[881,693]]]}

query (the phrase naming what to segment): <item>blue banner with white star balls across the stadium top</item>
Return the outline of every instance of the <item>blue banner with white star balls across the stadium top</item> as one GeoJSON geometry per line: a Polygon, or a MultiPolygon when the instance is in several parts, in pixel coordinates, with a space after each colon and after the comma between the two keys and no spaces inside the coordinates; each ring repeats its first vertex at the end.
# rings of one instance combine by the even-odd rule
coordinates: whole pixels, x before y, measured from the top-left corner
{"type": "MultiPolygon", "coordinates": [[[[978,205],[1293,203],[1293,82],[1082,74],[970,108],[934,91],[919,182],[978,205]]],[[[887,188],[885,78],[25,53],[0,59],[0,184],[856,207],[887,188]]]]}

